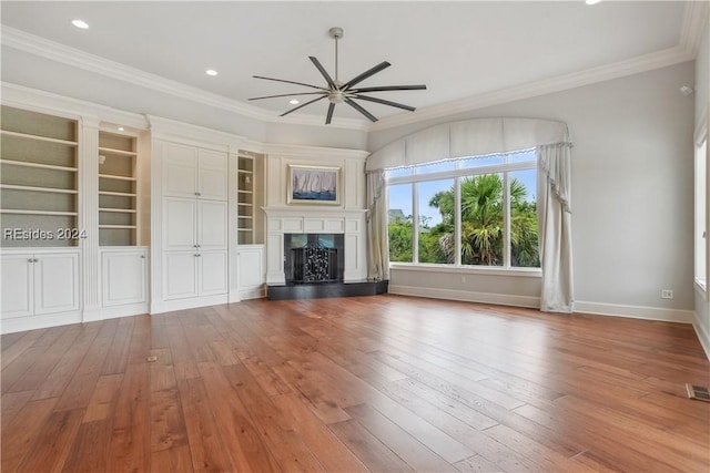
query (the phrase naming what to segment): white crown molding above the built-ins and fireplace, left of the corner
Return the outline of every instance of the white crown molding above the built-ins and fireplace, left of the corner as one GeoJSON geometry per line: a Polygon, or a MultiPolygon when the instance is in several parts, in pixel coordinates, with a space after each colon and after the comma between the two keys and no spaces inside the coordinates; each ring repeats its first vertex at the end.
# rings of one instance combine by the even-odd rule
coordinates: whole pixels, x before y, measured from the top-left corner
{"type": "MultiPolygon", "coordinates": [[[[57,43],[34,34],[2,27],[2,45],[23,51],[50,61],[101,74],[114,80],[128,82],[144,89],[164,94],[186,99],[203,105],[225,110],[242,116],[268,123],[304,126],[326,126],[322,116],[297,115],[288,119],[277,116],[277,112],[268,112],[254,105],[248,105],[234,99],[205,92],[202,89],[186,85],[158,74],[131,68],[120,62],[111,61],[75,48],[57,43]]],[[[331,127],[366,131],[367,122],[354,119],[334,119],[331,127]]]]}

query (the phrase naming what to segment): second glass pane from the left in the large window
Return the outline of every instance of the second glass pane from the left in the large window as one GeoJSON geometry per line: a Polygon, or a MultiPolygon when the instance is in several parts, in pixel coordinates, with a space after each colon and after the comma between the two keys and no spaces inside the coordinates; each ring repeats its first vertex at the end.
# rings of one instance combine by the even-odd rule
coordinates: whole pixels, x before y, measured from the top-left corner
{"type": "MultiPolygon", "coordinates": [[[[452,163],[453,164],[453,163],[452,163]]],[[[454,179],[417,184],[419,263],[454,263],[454,179]]]]}

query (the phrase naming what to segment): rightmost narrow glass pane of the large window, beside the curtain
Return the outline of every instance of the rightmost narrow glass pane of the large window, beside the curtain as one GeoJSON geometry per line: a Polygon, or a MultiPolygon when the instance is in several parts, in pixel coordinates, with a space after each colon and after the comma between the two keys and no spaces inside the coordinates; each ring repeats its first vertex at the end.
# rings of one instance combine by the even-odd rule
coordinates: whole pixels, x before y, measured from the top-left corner
{"type": "Polygon", "coordinates": [[[510,266],[539,268],[536,169],[508,173],[510,182],[510,266]]]}

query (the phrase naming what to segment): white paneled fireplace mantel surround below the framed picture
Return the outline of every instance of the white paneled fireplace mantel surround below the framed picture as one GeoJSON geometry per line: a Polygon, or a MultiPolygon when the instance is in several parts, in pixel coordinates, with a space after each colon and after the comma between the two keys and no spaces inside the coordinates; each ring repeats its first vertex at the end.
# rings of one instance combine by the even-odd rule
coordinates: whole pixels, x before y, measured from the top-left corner
{"type": "Polygon", "coordinates": [[[284,234],[344,234],[345,281],[367,278],[365,209],[294,205],[262,207],[266,214],[266,282],[285,284],[284,234]]]}

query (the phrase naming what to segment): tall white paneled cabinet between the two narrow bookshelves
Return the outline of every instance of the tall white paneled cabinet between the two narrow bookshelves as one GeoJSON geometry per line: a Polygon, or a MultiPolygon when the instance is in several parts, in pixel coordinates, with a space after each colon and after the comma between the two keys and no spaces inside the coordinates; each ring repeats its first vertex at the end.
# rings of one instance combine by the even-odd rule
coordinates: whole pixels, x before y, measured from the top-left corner
{"type": "Polygon", "coordinates": [[[227,153],[175,143],[161,150],[162,299],[179,301],[175,308],[226,301],[227,153]]]}

